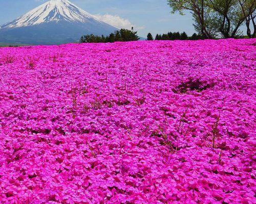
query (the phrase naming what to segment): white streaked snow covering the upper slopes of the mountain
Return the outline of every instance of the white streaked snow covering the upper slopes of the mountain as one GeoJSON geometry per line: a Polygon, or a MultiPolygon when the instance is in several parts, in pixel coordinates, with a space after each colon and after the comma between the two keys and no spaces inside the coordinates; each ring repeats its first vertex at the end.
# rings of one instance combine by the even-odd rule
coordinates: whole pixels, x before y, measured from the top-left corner
{"type": "Polygon", "coordinates": [[[67,0],[51,0],[20,16],[19,18],[3,24],[1,28],[8,29],[27,27],[52,21],[58,22],[60,20],[82,23],[88,21],[105,23],[67,0]]]}

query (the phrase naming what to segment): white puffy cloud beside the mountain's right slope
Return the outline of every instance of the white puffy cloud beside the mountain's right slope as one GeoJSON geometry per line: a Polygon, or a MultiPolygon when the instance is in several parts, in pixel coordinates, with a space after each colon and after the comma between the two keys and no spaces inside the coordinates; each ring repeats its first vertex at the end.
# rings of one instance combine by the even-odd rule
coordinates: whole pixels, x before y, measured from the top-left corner
{"type": "Polygon", "coordinates": [[[100,14],[96,14],[94,15],[95,17],[97,17],[99,20],[102,20],[110,25],[113,25],[114,27],[118,28],[118,29],[131,29],[132,27],[134,27],[134,29],[136,30],[141,30],[144,29],[144,27],[136,27],[136,25],[132,24],[130,22],[130,20],[128,19],[124,19],[121,18],[118,15],[110,15],[110,14],[104,14],[104,15],[100,15],[100,14]]]}

